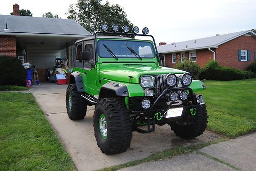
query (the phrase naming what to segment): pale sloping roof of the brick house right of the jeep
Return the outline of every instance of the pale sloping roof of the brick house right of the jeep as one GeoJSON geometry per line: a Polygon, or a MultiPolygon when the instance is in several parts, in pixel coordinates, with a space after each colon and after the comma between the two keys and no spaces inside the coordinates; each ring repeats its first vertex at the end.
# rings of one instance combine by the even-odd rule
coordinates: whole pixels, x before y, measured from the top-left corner
{"type": "Polygon", "coordinates": [[[173,44],[161,45],[157,46],[157,50],[158,53],[172,53],[206,48],[218,48],[219,45],[245,34],[250,34],[256,37],[256,34],[253,31],[247,30],[236,33],[175,42],[173,44]]]}

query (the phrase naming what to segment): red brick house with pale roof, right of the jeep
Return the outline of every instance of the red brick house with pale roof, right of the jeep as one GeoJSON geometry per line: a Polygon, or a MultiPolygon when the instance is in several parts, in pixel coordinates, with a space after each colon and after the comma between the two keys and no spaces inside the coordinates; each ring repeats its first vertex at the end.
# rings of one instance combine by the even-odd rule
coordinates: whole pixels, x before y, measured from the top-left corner
{"type": "Polygon", "coordinates": [[[174,67],[177,61],[185,59],[203,67],[207,61],[215,59],[221,66],[245,70],[256,60],[256,34],[248,30],[168,45],[161,42],[157,49],[163,54],[163,61],[168,67],[174,67]]]}

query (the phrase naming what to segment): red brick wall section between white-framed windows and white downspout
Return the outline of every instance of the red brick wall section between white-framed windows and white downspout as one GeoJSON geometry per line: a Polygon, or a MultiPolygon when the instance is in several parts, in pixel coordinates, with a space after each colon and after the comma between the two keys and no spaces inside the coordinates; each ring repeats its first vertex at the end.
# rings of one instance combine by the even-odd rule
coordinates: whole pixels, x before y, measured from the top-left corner
{"type": "MultiPolygon", "coordinates": [[[[215,51],[215,49],[211,49],[211,50],[215,51]]],[[[203,67],[205,63],[213,59],[214,59],[214,53],[212,53],[208,49],[197,50],[197,63],[200,67],[203,67]]]]}

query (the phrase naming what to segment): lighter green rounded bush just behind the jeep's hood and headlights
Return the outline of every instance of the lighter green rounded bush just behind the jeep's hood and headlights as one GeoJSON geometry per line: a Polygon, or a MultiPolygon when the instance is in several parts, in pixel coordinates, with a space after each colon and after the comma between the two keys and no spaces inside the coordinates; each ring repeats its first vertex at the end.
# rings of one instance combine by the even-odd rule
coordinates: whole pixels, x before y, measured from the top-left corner
{"type": "Polygon", "coordinates": [[[185,60],[184,62],[179,61],[176,63],[175,68],[189,72],[192,75],[193,79],[198,79],[198,76],[200,74],[199,65],[191,60],[185,60]]]}

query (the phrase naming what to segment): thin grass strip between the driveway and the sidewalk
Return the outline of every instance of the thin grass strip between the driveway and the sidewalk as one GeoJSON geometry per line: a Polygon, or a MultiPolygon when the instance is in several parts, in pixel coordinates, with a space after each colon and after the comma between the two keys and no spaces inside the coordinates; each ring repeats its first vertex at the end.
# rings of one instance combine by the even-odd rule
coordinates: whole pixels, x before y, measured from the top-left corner
{"type": "Polygon", "coordinates": [[[182,155],[182,154],[186,154],[186,153],[191,153],[191,152],[197,151],[197,150],[199,150],[203,147],[209,146],[211,144],[216,144],[216,143],[219,143],[219,142],[222,142],[222,141],[225,141],[225,140],[226,139],[220,138],[216,141],[200,143],[200,144],[197,144],[197,145],[177,146],[177,147],[174,147],[174,148],[171,148],[171,149],[166,149],[165,151],[162,151],[162,152],[152,154],[151,156],[148,156],[148,157],[143,158],[141,160],[130,161],[130,162],[127,162],[127,163],[124,163],[124,164],[102,168],[102,169],[99,169],[98,171],[115,171],[115,170],[119,170],[121,168],[131,167],[131,166],[135,166],[135,165],[138,165],[138,164],[141,164],[141,163],[164,160],[164,159],[171,158],[173,156],[182,155]]]}

